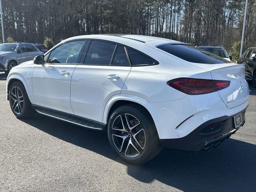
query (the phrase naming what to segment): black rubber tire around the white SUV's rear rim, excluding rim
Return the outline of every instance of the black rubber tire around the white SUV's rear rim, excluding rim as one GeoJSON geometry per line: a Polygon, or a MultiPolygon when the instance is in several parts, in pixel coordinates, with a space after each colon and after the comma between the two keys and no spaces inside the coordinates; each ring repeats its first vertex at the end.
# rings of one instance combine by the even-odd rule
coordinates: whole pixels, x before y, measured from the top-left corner
{"type": "MultiPolygon", "coordinates": [[[[123,160],[131,163],[131,164],[141,164],[146,162],[147,160],[149,160],[150,155],[151,155],[151,149],[153,148],[152,145],[154,145],[154,142],[152,142],[152,139],[156,137],[156,129],[154,122],[152,122],[152,120],[149,120],[148,117],[146,117],[142,111],[136,107],[133,106],[121,106],[119,108],[117,108],[110,116],[109,120],[108,120],[108,140],[110,142],[110,146],[114,149],[114,151],[116,152],[116,154],[122,158],[123,160]],[[143,128],[144,128],[144,132],[146,135],[146,144],[144,147],[144,150],[142,151],[142,153],[134,158],[129,158],[126,157],[124,154],[120,153],[116,146],[114,145],[114,142],[112,140],[112,124],[114,122],[114,120],[116,119],[116,117],[120,114],[124,114],[124,113],[128,113],[131,114],[133,116],[135,116],[136,118],[138,118],[138,120],[140,121],[140,123],[142,124],[143,128]]],[[[158,137],[158,135],[157,135],[158,137]]]]}

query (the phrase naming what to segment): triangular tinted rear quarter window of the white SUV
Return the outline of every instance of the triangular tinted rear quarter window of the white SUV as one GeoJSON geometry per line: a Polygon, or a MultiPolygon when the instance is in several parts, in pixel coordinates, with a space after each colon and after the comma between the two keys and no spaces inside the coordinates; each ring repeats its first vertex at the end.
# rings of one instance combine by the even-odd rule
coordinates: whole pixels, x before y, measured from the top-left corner
{"type": "Polygon", "coordinates": [[[144,54],[141,54],[133,49],[128,48],[128,53],[132,62],[132,65],[154,65],[158,64],[158,62],[144,54]]]}

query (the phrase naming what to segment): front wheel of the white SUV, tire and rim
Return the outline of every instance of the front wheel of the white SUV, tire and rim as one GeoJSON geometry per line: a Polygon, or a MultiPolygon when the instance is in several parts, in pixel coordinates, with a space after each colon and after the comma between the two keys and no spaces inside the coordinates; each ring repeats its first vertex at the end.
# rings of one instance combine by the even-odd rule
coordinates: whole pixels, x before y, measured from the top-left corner
{"type": "Polygon", "coordinates": [[[17,118],[25,119],[34,114],[26,89],[21,82],[14,82],[9,90],[9,103],[17,118]]]}

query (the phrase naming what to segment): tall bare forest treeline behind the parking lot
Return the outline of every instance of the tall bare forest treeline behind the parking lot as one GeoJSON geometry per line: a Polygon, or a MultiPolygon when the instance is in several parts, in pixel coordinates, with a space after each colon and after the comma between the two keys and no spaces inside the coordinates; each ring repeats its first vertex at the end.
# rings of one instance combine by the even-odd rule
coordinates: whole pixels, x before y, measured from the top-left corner
{"type": "MultiPolygon", "coordinates": [[[[192,45],[241,40],[245,0],[2,0],[4,32],[17,42],[84,34],[142,34],[192,45]]],[[[256,0],[248,1],[244,47],[256,46],[256,0]]]]}

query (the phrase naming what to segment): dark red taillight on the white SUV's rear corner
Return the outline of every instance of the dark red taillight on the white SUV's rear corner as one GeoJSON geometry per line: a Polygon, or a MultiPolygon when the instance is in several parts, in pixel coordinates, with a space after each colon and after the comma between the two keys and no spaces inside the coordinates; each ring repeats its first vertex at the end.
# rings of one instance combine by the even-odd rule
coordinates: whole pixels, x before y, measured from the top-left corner
{"type": "Polygon", "coordinates": [[[167,84],[172,88],[184,92],[188,95],[200,95],[227,88],[230,84],[230,81],[177,78],[168,81],[167,84]]]}

